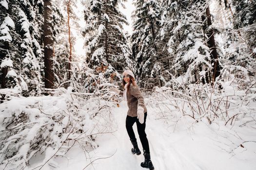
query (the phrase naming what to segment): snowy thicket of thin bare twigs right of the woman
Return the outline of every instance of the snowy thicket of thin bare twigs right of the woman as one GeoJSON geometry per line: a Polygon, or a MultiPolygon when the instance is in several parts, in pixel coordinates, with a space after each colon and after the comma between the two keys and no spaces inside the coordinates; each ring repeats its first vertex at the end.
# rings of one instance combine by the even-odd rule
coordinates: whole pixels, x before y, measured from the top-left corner
{"type": "Polygon", "coordinates": [[[188,85],[179,77],[176,89],[157,87],[154,96],[159,119],[174,121],[174,129],[179,121],[211,124],[220,120],[225,125],[242,125],[250,119],[255,123],[256,80],[247,76],[245,68],[231,66],[222,70],[221,77],[214,85],[188,85]]]}

